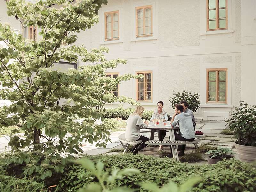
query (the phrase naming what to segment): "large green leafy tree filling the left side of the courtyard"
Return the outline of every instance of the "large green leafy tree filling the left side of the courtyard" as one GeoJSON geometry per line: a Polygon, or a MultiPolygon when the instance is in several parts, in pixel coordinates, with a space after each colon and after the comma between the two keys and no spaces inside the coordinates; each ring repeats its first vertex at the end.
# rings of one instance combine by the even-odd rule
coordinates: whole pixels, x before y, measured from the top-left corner
{"type": "MultiPolygon", "coordinates": [[[[109,132],[104,125],[95,124],[104,104],[134,104],[132,99],[116,97],[111,91],[121,81],[139,76],[127,74],[116,79],[105,76],[107,68],[125,64],[126,60],[107,61],[104,54],[108,48],[100,47],[89,52],[83,46],[70,45],[76,42],[75,33],[98,22],[97,14],[102,4],[107,1],[81,0],[75,4],[67,0],[40,0],[33,4],[25,0],[7,2],[8,15],[15,16],[23,27],[37,26],[42,37],[37,41],[25,40],[10,26],[0,24],[0,40],[7,46],[0,49],[0,82],[6,87],[0,91],[0,99],[12,102],[0,109],[0,126],[19,126],[20,129],[12,130],[9,145],[17,153],[24,148],[27,151],[18,153],[11,162],[29,164],[31,155],[42,153],[59,161],[60,154],[82,152],[83,140],[105,146],[109,132]],[[53,4],[61,8],[54,8],[53,4]],[[63,41],[68,46],[61,46],[63,41]],[[53,70],[54,63],[61,59],[69,62],[79,59],[91,65],[68,72],[53,70]],[[67,102],[60,105],[63,99],[67,102]],[[25,132],[24,138],[13,135],[19,130],[25,132]]],[[[47,158],[39,158],[37,162],[49,165],[47,158]]],[[[31,174],[35,169],[37,167],[26,172],[31,174]]],[[[48,169],[44,173],[44,176],[51,175],[48,169]]]]}

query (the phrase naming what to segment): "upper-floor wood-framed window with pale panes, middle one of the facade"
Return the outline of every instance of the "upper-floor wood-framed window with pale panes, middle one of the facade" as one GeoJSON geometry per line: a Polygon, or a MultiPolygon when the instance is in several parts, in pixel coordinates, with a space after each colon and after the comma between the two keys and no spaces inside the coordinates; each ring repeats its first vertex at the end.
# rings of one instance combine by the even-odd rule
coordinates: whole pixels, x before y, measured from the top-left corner
{"type": "Polygon", "coordinates": [[[136,37],[152,36],[152,5],[136,7],[136,37]]]}

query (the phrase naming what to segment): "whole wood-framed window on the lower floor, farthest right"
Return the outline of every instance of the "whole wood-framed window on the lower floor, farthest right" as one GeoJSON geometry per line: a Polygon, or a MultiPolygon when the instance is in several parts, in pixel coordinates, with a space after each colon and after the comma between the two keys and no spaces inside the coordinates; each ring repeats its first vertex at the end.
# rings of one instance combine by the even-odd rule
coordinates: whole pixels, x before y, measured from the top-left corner
{"type": "Polygon", "coordinates": [[[227,68],[206,69],[208,103],[227,103],[227,68]]]}

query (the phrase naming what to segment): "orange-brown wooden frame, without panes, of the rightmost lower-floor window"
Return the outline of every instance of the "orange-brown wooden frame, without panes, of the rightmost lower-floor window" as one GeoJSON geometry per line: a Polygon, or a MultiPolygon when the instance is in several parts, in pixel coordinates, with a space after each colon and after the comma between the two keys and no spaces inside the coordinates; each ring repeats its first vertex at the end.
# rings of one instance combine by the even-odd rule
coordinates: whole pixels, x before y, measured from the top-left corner
{"type": "Polygon", "coordinates": [[[227,103],[227,96],[228,96],[228,68],[207,68],[206,69],[206,103],[227,103]],[[208,89],[209,89],[209,71],[215,71],[216,72],[216,101],[208,101],[208,89]],[[225,101],[218,101],[218,92],[219,92],[219,86],[218,82],[219,81],[219,71],[226,71],[226,98],[225,101]]]}

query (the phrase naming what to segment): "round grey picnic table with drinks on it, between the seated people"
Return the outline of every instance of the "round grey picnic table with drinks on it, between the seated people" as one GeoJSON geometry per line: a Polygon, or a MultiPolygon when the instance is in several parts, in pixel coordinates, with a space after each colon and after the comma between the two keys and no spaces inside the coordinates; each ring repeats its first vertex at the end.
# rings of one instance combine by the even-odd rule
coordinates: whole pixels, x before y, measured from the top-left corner
{"type": "MultiPolygon", "coordinates": [[[[170,141],[175,141],[174,130],[178,130],[179,126],[176,125],[175,127],[172,127],[169,124],[169,122],[167,122],[167,125],[164,125],[164,124],[154,125],[152,122],[150,122],[148,125],[149,126],[146,129],[151,130],[150,140],[154,140],[156,130],[168,130],[170,133],[170,137],[169,137],[170,141]]],[[[171,148],[172,156],[173,156],[174,160],[179,161],[179,156],[177,153],[175,153],[175,151],[177,151],[177,145],[171,145],[170,148],[171,148]]]]}

